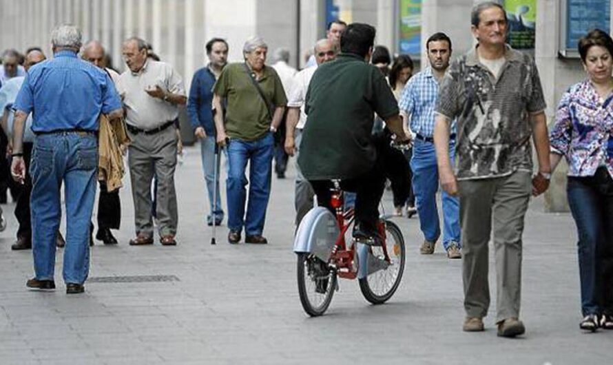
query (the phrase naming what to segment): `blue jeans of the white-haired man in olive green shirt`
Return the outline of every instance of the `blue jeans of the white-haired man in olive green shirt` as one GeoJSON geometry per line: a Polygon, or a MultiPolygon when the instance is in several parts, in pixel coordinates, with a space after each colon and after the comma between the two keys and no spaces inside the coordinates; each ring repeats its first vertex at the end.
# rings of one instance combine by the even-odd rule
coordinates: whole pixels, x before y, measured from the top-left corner
{"type": "Polygon", "coordinates": [[[271,166],[273,160],[274,138],[267,133],[258,140],[246,141],[231,139],[227,146],[228,178],[226,191],[228,200],[228,228],[242,231],[245,226],[247,236],[258,236],[264,230],[266,209],[270,197],[271,166]],[[249,162],[249,178],[245,169],[249,162]],[[245,217],[245,200],[249,183],[249,202],[245,217]]]}

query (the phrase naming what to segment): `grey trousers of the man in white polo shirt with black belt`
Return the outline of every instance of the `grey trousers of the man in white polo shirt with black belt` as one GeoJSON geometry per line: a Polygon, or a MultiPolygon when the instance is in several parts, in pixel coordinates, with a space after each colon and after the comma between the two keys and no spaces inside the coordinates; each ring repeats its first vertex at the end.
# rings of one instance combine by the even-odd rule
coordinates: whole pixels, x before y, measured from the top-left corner
{"type": "Polygon", "coordinates": [[[153,236],[151,185],[156,176],[158,190],[156,216],[160,236],[176,235],[178,223],[174,170],[176,167],[177,136],[174,127],[156,134],[128,132],[132,143],[128,147],[127,163],[132,181],[136,234],[153,236]]]}

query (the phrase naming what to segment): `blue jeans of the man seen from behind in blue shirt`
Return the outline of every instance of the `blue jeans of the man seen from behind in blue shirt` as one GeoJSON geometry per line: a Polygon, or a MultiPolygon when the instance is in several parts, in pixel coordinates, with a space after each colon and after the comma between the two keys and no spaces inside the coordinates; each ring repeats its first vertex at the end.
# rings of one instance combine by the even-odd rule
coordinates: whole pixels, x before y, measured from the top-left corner
{"type": "Polygon", "coordinates": [[[66,246],[63,279],[83,284],[90,270],[90,220],[96,196],[98,139],[63,132],[36,137],[32,151],[32,254],[39,280],[53,280],[55,240],[61,220],[60,189],[65,183],[66,246]]]}

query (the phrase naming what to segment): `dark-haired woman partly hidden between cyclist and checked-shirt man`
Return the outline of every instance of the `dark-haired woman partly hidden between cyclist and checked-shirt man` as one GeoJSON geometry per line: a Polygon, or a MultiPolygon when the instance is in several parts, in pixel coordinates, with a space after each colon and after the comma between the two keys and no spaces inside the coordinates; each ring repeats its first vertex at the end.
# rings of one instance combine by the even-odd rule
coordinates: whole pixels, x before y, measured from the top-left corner
{"type": "MultiPolygon", "coordinates": [[[[404,85],[408,79],[411,79],[413,74],[413,60],[411,56],[408,54],[401,54],[395,59],[394,64],[391,68],[390,74],[388,76],[388,81],[392,88],[392,92],[396,98],[396,101],[400,100],[400,96],[402,96],[402,90],[404,90],[404,85]]],[[[410,133],[408,131],[408,127],[404,125],[405,133],[410,133]]],[[[408,174],[408,186],[399,185],[392,181],[392,194],[394,197],[394,215],[402,216],[402,209],[406,205],[406,216],[411,218],[415,213],[417,213],[417,209],[415,209],[415,194],[413,194],[413,186],[411,185],[411,167],[408,165],[408,161],[411,160],[411,156],[413,154],[412,149],[408,149],[404,152],[404,157],[406,158],[406,165],[408,166],[407,174],[408,174]]]]}

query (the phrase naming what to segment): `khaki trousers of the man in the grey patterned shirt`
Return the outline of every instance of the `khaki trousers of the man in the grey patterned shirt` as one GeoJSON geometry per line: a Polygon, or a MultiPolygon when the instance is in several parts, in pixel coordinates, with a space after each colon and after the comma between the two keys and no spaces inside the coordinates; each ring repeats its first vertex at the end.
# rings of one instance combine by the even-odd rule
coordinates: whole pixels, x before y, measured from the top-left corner
{"type": "Polygon", "coordinates": [[[458,190],[466,315],[485,317],[488,314],[488,242],[493,229],[496,322],[519,317],[521,235],[532,192],[530,173],[516,171],[501,178],[461,180],[458,190]]]}

